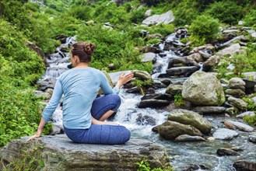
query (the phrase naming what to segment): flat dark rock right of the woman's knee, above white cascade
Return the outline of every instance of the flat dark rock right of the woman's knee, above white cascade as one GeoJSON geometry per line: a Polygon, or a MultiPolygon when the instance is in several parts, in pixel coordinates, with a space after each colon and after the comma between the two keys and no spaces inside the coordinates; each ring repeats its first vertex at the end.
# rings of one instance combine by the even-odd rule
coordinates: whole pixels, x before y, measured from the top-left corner
{"type": "Polygon", "coordinates": [[[146,108],[146,107],[156,108],[156,107],[167,106],[169,104],[170,104],[170,101],[166,99],[144,99],[139,103],[138,107],[139,108],[146,108]]]}

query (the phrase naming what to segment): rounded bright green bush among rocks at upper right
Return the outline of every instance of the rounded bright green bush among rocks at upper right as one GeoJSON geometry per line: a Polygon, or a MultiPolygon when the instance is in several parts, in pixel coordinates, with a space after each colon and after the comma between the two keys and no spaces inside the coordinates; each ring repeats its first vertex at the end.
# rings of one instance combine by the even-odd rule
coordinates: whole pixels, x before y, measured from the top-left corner
{"type": "Polygon", "coordinates": [[[190,40],[194,41],[195,46],[205,44],[217,37],[219,26],[219,21],[211,16],[198,16],[191,23],[190,40]]]}

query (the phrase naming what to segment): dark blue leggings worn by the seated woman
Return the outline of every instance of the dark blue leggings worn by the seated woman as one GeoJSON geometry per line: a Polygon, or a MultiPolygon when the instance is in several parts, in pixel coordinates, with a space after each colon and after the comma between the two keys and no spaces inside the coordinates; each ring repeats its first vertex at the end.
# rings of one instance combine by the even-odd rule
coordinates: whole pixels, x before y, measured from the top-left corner
{"type": "MultiPolygon", "coordinates": [[[[99,120],[108,110],[117,111],[120,104],[121,99],[118,95],[102,96],[93,101],[91,113],[99,120]]],[[[106,124],[92,124],[88,129],[65,128],[65,134],[75,142],[105,145],[124,144],[131,137],[126,127],[106,124]]]]}

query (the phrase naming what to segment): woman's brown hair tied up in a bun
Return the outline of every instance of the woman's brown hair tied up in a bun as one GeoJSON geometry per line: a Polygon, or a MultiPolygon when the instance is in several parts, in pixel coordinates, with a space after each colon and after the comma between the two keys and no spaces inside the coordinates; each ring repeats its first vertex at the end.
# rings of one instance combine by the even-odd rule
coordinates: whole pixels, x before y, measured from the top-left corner
{"type": "Polygon", "coordinates": [[[94,44],[78,42],[72,45],[71,53],[72,55],[78,56],[80,61],[89,62],[91,61],[91,55],[93,54],[94,48],[94,44]]]}

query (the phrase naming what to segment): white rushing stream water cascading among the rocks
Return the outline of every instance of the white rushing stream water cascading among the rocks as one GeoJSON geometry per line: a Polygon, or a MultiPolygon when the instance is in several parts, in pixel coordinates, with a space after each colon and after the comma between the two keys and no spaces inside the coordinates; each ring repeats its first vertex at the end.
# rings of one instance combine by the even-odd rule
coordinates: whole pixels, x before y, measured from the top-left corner
{"type": "MultiPolygon", "coordinates": [[[[174,35],[170,36],[169,39],[174,39],[174,35]]],[[[75,42],[75,37],[69,38],[66,44],[72,44],[75,42]]],[[[160,48],[163,48],[163,44],[160,44],[160,48]]],[[[167,69],[168,61],[170,58],[177,57],[172,51],[167,51],[167,55],[161,58],[157,54],[156,63],[160,64],[160,68],[155,68],[153,71],[153,79],[157,79],[160,73],[165,73],[167,69]]],[[[50,65],[47,68],[47,72],[43,79],[56,78],[61,73],[68,70],[69,54],[62,53],[57,49],[56,54],[51,54],[50,58],[47,59],[50,65]]],[[[157,92],[165,92],[165,89],[158,89],[157,92]]],[[[163,124],[167,120],[168,113],[165,110],[159,109],[139,109],[137,105],[142,97],[139,94],[126,93],[125,89],[121,89],[120,96],[122,104],[117,115],[114,117],[114,121],[128,127],[132,131],[133,137],[146,138],[150,141],[157,142],[164,145],[167,148],[167,152],[170,156],[170,162],[174,166],[175,170],[184,170],[185,166],[201,166],[197,170],[235,170],[232,167],[232,163],[237,159],[256,160],[256,145],[248,141],[248,136],[252,133],[237,131],[239,136],[234,138],[232,141],[204,141],[204,142],[173,142],[167,141],[160,138],[159,134],[154,133],[153,127],[159,124],[163,124]],[[238,156],[223,156],[219,157],[216,155],[218,148],[227,147],[239,147],[244,151],[240,152],[238,156]],[[205,169],[209,168],[209,169],[205,169]]],[[[211,122],[214,129],[217,127],[223,127],[223,120],[225,117],[220,116],[206,116],[211,122]]],[[[228,118],[230,119],[230,118],[228,118]]],[[[232,120],[238,120],[231,118],[232,120]]],[[[53,116],[54,124],[61,126],[61,108],[55,111],[53,116]]]]}

